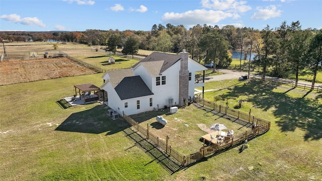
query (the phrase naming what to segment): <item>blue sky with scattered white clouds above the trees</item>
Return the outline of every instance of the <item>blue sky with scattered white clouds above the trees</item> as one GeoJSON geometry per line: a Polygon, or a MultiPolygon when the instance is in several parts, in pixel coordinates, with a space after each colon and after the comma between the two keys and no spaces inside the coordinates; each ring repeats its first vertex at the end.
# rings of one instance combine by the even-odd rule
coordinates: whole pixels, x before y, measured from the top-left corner
{"type": "Polygon", "coordinates": [[[276,28],[300,21],[322,29],[322,1],[296,0],[0,0],[0,30],[151,30],[154,24],[276,28]]]}

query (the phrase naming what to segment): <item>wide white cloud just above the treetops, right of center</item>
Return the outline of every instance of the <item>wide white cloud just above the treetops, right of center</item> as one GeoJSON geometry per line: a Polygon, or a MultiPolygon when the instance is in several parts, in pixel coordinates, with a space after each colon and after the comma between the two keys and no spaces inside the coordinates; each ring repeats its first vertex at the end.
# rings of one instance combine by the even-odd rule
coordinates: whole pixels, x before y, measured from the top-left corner
{"type": "Polygon", "coordinates": [[[234,17],[231,13],[213,10],[194,10],[185,13],[165,13],[162,16],[162,21],[174,25],[184,25],[186,27],[193,27],[197,24],[211,25],[226,18],[234,17]]]}

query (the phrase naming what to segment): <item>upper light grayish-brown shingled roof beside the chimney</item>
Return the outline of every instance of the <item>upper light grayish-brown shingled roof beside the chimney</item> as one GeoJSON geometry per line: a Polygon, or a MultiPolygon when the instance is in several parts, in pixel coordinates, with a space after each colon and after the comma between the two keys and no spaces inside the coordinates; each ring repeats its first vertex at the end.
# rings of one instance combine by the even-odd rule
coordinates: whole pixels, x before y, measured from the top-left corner
{"type": "Polygon", "coordinates": [[[144,59],[142,59],[137,64],[133,65],[134,68],[136,65],[138,65],[141,62],[153,62],[153,61],[161,61],[164,60],[162,67],[160,68],[160,72],[157,72],[157,74],[160,74],[167,70],[169,67],[171,67],[173,64],[175,64],[178,60],[180,60],[180,55],[174,55],[169,53],[159,53],[159,52],[153,52],[144,59]]]}

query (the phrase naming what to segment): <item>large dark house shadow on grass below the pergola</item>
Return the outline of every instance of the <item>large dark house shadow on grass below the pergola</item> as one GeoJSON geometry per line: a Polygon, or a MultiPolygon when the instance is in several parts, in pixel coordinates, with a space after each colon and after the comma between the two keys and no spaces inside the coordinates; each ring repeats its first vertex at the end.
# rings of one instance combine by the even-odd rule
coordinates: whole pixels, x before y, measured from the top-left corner
{"type": "Polygon", "coordinates": [[[107,132],[106,135],[112,135],[129,127],[123,118],[112,120],[107,110],[106,105],[98,105],[90,110],[73,113],[55,130],[93,134],[107,132]]]}

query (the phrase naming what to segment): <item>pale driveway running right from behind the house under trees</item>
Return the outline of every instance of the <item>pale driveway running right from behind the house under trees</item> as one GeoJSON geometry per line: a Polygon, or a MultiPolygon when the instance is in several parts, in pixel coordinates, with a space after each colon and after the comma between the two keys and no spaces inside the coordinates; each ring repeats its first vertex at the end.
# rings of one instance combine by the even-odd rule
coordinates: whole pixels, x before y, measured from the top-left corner
{"type": "MultiPolygon", "coordinates": [[[[238,79],[239,77],[241,77],[241,75],[248,75],[248,72],[238,71],[238,70],[229,70],[229,69],[219,69],[219,72],[222,72],[224,74],[205,77],[205,81],[217,81],[217,80],[226,80],[226,79],[234,79],[234,78],[238,79]]],[[[273,78],[273,77],[270,77],[270,78],[273,78]]],[[[289,82],[295,82],[294,80],[285,79],[285,78],[276,78],[276,79],[283,80],[283,81],[289,81],[289,82]]],[[[311,85],[311,82],[300,81],[300,80],[298,81],[298,83],[311,85]]],[[[320,84],[320,83],[315,83],[314,85],[315,86],[322,86],[322,84],[320,84]]]]}

